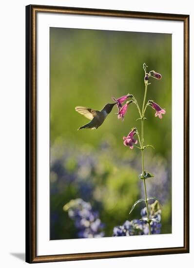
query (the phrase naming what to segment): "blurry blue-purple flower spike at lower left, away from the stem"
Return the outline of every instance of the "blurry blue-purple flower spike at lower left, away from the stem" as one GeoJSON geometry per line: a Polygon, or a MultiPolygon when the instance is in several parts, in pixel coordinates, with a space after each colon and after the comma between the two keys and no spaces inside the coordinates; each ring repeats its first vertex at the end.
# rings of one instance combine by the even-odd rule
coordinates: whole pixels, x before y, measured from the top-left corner
{"type": "Polygon", "coordinates": [[[104,224],[98,218],[98,212],[93,211],[89,202],[81,198],[71,200],[63,210],[68,211],[68,215],[74,220],[75,227],[78,229],[78,238],[103,237],[101,229],[104,224]]]}

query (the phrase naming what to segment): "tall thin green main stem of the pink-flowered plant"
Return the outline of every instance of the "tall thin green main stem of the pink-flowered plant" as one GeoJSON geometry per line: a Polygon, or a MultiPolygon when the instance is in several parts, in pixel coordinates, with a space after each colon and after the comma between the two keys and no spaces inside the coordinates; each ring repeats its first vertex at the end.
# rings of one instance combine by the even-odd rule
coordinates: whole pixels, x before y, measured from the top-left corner
{"type": "MultiPolygon", "coordinates": [[[[143,148],[144,143],[144,137],[143,137],[143,117],[144,117],[144,107],[145,107],[145,101],[146,101],[146,95],[147,95],[147,88],[148,85],[145,84],[145,94],[143,99],[143,106],[142,106],[142,113],[141,113],[141,147],[143,148]]],[[[142,159],[142,174],[144,174],[144,150],[141,150],[141,159],[142,159]]],[[[147,191],[146,191],[146,179],[143,179],[143,185],[144,185],[144,193],[145,193],[145,202],[146,202],[146,209],[147,209],[147,218],[148,218],[148,226],[149,226],[149,234],[151,234],[151,227],[150,227],[150,213],[149,213],[149,207],[148,207],[148,200],[147,200],[147,191]]]]}

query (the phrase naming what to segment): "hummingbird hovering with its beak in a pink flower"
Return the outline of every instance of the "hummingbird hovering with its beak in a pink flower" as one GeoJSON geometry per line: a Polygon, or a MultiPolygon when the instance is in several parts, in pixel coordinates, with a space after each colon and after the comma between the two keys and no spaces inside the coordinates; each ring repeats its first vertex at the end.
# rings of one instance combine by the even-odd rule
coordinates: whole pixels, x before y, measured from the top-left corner
{"type": "Polygon", "coordinates": [[[91,108],[86,108],[82,106],[76,106],[75,110],[81,114],[90,119],[91,121],[88,124],[83,125],[82,127],[78,128],[80,129],[97,129],[106,119],[106,116],[110,114],[112,111],[115,103],[107,103],[101,111],[97,111],[91,108]]]}

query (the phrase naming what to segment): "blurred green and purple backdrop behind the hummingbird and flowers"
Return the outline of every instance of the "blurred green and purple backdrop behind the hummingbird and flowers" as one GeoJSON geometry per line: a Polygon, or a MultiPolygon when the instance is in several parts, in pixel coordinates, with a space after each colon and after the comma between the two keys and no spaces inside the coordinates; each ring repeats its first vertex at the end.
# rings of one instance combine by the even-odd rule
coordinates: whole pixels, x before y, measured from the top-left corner
{"type": "Polygon", "coordinates": [[[130,218],[129,211],[143,197],[141,155],[122,140],[132,127],[140,130],[136,106],[129,105],[124,122],[114,107],[97,130],[80,131],[88,119],[74,108],[101,110],[113,103],[112,96],[127,93],[142,106],[144,62],[147,71],[162,75],[161,80],[150,79],[147,100],[166,109],[161,120],[152,108],[146,111],[144,140],[155,147],[145,151],[145,167],[155,173],[147,188],[164,203],[161,232],[171,233],[171,45],[169,34],[50,28],[51,239],[77,237],[62,208],[79,197],[99,211],[105,236],[112,236],[114,226],[125,220],[140,218],[141,205],[130,218]]]}

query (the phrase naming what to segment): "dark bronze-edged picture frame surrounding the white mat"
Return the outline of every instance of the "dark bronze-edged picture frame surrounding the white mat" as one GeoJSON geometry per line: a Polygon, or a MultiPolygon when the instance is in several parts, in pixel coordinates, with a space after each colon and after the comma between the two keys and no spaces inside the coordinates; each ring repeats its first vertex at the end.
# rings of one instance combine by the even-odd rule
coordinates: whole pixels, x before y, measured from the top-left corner
{"type": "Polygon", "coordinates": [[[26,262],[55,262],[146,256],[189,252],[189,15],[83,9],[55,6],[26,6],[26,262]],[[182,21],[184,23],[184,246],[61,255],[37,255],[37,13],[111,16],[136,19],[182,21]]]}

